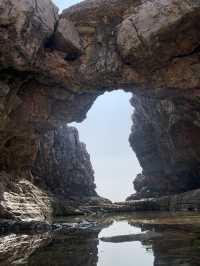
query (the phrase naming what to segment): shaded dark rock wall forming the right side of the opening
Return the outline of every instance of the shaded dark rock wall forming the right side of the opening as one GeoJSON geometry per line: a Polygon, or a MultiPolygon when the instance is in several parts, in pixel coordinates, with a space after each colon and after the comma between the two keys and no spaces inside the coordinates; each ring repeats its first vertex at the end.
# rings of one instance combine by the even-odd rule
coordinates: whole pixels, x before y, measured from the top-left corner
{"type": "Polygon", "coordinates": [[[199,95],[171,99],[132,98],[135,107],[130,144],[143,173],[132,198],[185,192],[200,187],[199,95]]]}

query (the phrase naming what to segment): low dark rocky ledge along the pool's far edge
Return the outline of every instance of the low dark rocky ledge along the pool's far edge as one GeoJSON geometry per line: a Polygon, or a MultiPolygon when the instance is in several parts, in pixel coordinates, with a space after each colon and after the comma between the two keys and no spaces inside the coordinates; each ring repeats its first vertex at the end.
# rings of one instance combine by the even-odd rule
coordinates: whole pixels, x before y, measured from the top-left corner
{"type": "MultiPolygon", "coordinates": [[[[131,200],[126,202],[111,203],[109,201],[99,200],[96,202],[88,201],[74,204],[66,202],[66,206],[60,215],[55,215],[56,219],[74,219],[77,217],[78,223],[57,223],[41,222],[33,220],[11,220],[0,219],[0,234],[5,233],[44,233],[51,231],[78,232],[79,230],[95,230],[100,224],[96,222],[98,217],[107,214],[130,214],[136,215],[146,212],[176,213],[176,212],[199,212],[200,211],[200,190],[194,190],[174,196],[165,196],[161,198],[149,198],[142,200],[131,200]],[[69,207],[70,206],[70,207],[69,207]],[[59,218],[60,217],[60,218],[59,218]],[[71,218],[70,218],[71,217],[71,218]],[[89,221],[84,217],[90,217],[89,221]]],[[[59,208],[61,211],[61,208],[59,208]]],[[[156,214],[156,215],[157,215],[156,214]]]]}

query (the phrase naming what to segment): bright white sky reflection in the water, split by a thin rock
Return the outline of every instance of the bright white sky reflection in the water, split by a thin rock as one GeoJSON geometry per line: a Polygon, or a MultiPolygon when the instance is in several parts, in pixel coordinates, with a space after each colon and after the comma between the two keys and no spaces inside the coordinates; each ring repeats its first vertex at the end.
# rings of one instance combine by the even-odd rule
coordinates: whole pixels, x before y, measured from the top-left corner
{"type": "MultiPolygon", "coordinates": [[[[141,229],[131,226],[128,221],[114,222],[103,229],[100,237],[141,233],[141,229]]],[[[154,257],[150,250],[140,242],[105,243],[100,241],[98,246],[98,266],[152,266],[154,257]]]]}

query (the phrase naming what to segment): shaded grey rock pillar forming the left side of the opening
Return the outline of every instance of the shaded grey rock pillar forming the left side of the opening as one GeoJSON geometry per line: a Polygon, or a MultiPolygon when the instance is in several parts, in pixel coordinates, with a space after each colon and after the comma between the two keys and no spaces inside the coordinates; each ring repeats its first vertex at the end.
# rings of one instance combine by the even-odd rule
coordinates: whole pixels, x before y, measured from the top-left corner
{"type": "Polygon", "coordinates": [[[76,128],[62,126],[44,134],[32,173],[38,186],[57,197],[78,200],[97,196],[90,156],[76,128]]]}

